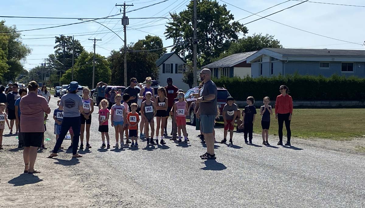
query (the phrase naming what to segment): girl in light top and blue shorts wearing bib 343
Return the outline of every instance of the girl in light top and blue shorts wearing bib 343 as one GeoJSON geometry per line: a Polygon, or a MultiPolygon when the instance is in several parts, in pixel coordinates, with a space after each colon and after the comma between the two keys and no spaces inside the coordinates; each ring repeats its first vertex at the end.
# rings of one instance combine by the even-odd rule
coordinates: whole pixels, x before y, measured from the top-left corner
{"type": "Polygon", "coordinates": [[[111,122],[115,128],[115,146],[119,147],[118,139],[120,134],[120,146],[124,145],[123,141],[123,125],[126,123],[126,107],[121,104],[122,96],[117,94],[115,96],[115,104],[111,107],[111,122]]]}

